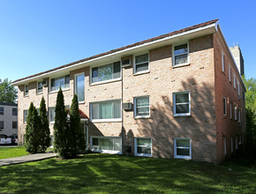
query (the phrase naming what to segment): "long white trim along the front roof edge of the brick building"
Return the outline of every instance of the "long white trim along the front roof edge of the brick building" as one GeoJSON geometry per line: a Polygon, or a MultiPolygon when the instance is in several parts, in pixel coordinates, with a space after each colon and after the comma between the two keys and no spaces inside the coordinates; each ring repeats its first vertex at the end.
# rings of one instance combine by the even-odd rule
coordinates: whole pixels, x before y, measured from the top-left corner
{"type": "Polygon", "coordinates": [[[26,82],[26,81],[31,80],[31,79],[34,79],[34,78],[42,78],[42,77],[44,77],[44,76],[46,76],[46,75],[53,74],[53,73],[56,73],[56,72],[58,72],[58,71],[64,71],[64,70],[66,70],[66,69],[79,66],[80,64],[90,63],[90,62],[93,62],[93,61],[96,61],[96,60],[99,60],[99,59],[102,59],[102,58],[107,58],[107,57],[109,57],[109,56],[115,56],[115,55],[117,55],[117,54],[122,54],[122,53],[127,52],[127,51],[130,51],[130,50],[134,50],[134,49],[137,49],[137,48],[142,48],[142,47],[146,47],[146,46],[149,46],[149,45],[153,45],[153,44],[158,43],[158,42],[168,41],[168,40],[171,40],[171,39],[180,37],[180,36],[184,36],[184,35],[186,35],[186,34],[194,34],[194,33],[197,33],[197,32],[203,31],[203,30],[207,30],[207,29],[209,29],[209,28],[213,28],[213,27],[214,27],[214,28],[215,28],[215,32],[217,32],[217,26],[218,26],[218,22],[216,21],[215,23],[213,23],[213,24],[211,24],[211,25],[198,27],[198,28],[196,28],[196,29],[189,30],[189,31],[186,31],[186,32],[180,33],[180,34],[170,35],[170,36],[168,36],[168,37],[166,37],[166,38],[158,39],[158,40],[156,40],[156,41],[150,41],[150,42],[147,42],[147,43],[144,43],[144,44],[140,44],[140,45],[135,46],[135,47],[132,47],[132,48],[126,48],[126,49],[124,49],[124,50],[120,50],[120,51],[111,53],[111,54],[106,55],[106,56],[99,56],[99,57],[96,57],[96,58],[94,58],[94,59],[87,60],[86,62],[75,63],[75,64],[73,64],[73,65],[70,65],[70,66],[67,66],[67,67],[63,67],[63,68],[58,69],[58,70],[55,70],[55,71],[45,72],[45,73],[43,73],[43,74],[41,74],[41,75],[34,76],[34,77],[32,77],[32,78],[22,79],[22,80],[20,80],[20,81],[11,83],[11,85],[19,85],[19,83],[26,82]]]}

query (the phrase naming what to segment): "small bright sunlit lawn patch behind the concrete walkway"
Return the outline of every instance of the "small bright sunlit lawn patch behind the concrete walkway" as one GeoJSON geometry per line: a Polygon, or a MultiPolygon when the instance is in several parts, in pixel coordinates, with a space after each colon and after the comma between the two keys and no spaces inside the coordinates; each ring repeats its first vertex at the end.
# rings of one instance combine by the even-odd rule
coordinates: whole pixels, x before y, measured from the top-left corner
{"type": "Polygon", "coordinates": [[[27,155],[24,146],[0,147],[0,160],[27,155]]]}

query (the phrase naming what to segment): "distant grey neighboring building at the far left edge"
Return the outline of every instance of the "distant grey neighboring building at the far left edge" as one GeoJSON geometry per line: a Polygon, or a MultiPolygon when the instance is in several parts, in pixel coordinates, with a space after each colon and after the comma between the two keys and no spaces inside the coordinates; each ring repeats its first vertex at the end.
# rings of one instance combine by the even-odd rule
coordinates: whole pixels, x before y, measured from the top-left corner
{"type": "Polygon", "coordinates": [[[0,102],[0,134],[7,136],[18,134],[18,105],[0,102]]]}

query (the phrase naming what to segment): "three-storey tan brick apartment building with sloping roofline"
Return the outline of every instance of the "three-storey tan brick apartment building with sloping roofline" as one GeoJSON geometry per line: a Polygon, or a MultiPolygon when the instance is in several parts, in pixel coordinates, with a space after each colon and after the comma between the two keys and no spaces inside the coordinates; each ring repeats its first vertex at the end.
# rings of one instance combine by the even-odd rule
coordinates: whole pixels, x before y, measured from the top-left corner
{"type": "Polygon", "coordinates": [[[42,96],[53,133],[60,86],[67,107],[78,94],[94,152],[220,163],[245,139],[245,85],[217,19],[12,84],[20,142],[29,104],[39,108],[42,96]]]}

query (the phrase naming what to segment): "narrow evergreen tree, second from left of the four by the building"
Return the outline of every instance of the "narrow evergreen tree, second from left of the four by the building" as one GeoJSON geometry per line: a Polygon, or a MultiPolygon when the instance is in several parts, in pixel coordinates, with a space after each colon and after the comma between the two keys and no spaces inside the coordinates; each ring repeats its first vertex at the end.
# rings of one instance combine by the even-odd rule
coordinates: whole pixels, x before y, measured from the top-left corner
{"type": "Polygon", "coordinates": [[[40,148],[41,148],[41,152],[44,153],[47,147],[50,146],[50,138],[49,138],[50,131],[49,131],[49,120],[47,116],[45,100],[43,97],[41,98],[39,115],[41,119],[40,148]]]}

